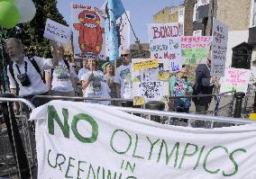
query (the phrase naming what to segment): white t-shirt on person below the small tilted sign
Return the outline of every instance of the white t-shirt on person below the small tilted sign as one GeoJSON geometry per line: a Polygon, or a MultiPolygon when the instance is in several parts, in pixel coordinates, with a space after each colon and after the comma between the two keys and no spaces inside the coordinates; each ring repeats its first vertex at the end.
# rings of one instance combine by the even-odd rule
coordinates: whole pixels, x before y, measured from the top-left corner
{"type": "MultiPolygon", "coordinates": [[[[51,69],[47,70],[51,73],[51,69]]],[[[70,92],[74,88],[70,80],[71,76],[74,76],[75,72],[69,63],[69,68],[66,66],[64,60],[59,61],[59,65],[54,67],[52,80],[51,80],[51,90],[57,92],[70,92]]]]}

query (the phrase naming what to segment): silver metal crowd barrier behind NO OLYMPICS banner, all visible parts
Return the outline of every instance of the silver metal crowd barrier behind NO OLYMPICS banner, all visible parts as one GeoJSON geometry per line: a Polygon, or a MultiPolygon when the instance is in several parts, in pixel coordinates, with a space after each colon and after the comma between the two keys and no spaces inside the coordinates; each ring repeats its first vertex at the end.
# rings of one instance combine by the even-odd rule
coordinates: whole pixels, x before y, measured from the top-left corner
{"type": "MultiPolygon", "coordinates": [[[[63,98],[55,96],[51,98],[63,98]]],[[[68,97],[66,98],[68,99],[68,97]]],[[[74,100],[74,98],[69,98],[74,100]]],[[[77,98],[84,100],[84,98],[77,98]]],[[[91,99],[90,99],[91,100],[91,99]]],[[[99,99],[97,99],[99,100],[99,99]]],[[[100,99],[103,100],[103,99],[100,99]]],[[[113,99],[104,99],[113,100],[113,99]]],[[[118,100],[123,101],[123,100],[118,100]]],[[[129,100],[128,102],[131,102],[129,100]]],[[[22,98],[5,98],[0,97],[0,106],[3,115],[0,116],[0,177],[16,176],[27,178],[24,175],[32,175],[36,178],[37,162],[35,153],[34,129],[31,121],[28,121],[29,115],[34,106],[32,103],[22,98]],[[23,105],[23,112],[14,115],[13,103],[19,102],[23,105]],[[9,126],[8,126],[9,125],[9,126]],[[16,132],[19,131],[19,132],[16,132]],[[17,137],[16,134],[20,137],[17,137]],[[20,139],[19,139],[20,138],[20,139]],[[25,156],[21,155],[24,153],[25,156]],[[23,158],[23,161],[21,161],[23,158]],[[26,168],[27,167],[27,168],[26,168]],[[25,169],[28,173],[23,173],[25,169]]],[[[205,114],[178,113],[178,112],[160,112],[146,109],[127,108],[120,106],[111,106],[116,110],[129,112],[144,119],[158,121],[164,125],[179,125],[194,128],[217,128],[217,124],[228,124],[227,126],[256,123],[246,119],[234,119],[228,117],[218,117],[205,114]],[[202,125],[202,123],[204,125],[202,125]],[[205,125],[207,124],[207,125],[205,125]]]]}

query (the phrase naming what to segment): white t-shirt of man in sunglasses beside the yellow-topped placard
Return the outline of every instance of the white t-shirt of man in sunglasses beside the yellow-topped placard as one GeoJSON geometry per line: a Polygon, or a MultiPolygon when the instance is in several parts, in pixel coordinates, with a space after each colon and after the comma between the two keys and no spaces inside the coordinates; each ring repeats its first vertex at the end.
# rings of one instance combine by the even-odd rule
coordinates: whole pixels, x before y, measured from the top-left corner
{"type": "Polygon", "coordinates": [[[121,98],[133,98],[133,79],[132,79],[132,66],[120,66],[116,68],[114,83],[121,85],[121,98]]]}

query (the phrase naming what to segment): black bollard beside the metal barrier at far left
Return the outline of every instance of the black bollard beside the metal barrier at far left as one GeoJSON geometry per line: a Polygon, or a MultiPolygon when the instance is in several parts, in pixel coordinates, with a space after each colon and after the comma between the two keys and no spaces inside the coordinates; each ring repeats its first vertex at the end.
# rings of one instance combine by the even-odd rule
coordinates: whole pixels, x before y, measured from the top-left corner
{"type": "MultiPolygon", "coordinates": [[[[0,94],[0,97],[14,98],[14,94],[0,94]]],[[[14,158],[16,159],[17,166],[21,172],[21,179],[31,178],[29,163],[23,148],[23,141],[14,116],[13,103],[0,102],[0,106],[3,110],[5,125],[14,158]]]]}

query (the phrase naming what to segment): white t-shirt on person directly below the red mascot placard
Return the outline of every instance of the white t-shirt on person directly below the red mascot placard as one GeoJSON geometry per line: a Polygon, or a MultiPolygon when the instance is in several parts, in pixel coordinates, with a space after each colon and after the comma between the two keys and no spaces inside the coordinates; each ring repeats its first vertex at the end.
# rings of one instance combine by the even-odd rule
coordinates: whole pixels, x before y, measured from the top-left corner
{"type": "MultiPolygon", "coordinates": [[[[94,71],[94,80],[90,82],[90,84],[87,86],[87,89],[84,90],[84,97],[101,97],[103,92],[102,92],[102,86],[97,86],[94,87],[94,83],[101,83],[105,82],[105,77],[102,71],[94,71]]],[[[83,74],[81,76],[81,80],[87,80],[88,77],[92,74],[91,71],[87,71],[87,73],[83,74]]]]}

